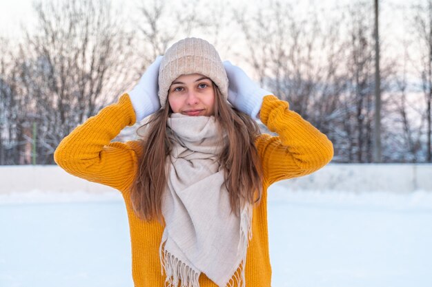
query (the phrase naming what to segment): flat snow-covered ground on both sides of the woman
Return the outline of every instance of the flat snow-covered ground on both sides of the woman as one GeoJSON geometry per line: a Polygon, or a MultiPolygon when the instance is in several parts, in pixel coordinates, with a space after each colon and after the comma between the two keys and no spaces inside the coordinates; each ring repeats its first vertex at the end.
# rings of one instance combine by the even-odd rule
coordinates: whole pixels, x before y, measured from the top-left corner
{"type": "MultiPolygon", "coordinates": [[[[273,287],[431,287],[432,193],[269,189],[273,287]]],[[[1,287],[132,287],[117,193],[0,195],[1,287]]]]}

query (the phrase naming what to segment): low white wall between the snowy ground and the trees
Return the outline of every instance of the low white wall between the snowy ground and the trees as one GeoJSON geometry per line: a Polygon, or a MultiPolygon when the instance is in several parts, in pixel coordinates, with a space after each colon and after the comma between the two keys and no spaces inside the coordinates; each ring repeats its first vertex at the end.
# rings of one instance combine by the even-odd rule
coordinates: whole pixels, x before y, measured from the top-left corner
{"type": "MultiPolygon", "coordinates": [[[[279,184],[293,191],[432,192],[432,164],[328,164],[309,176],[279,184]]],[[[57,166],[0,166],[0,194],[26,191],[104,193],[112,189],[71,176],[57,166]]]]}

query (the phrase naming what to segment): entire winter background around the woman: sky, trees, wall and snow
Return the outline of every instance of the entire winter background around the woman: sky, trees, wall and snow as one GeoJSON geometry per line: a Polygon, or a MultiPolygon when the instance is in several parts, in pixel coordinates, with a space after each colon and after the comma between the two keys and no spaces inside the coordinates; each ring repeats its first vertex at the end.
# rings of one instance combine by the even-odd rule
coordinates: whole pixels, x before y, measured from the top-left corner
{"type": "Polygon", "coordinates": [[[0,0],[0,286],[133,286],[121,195],[53,153],[186,36],[333,142],[268,191],[272,286],[432,286],[432,0],[0,0]]]}

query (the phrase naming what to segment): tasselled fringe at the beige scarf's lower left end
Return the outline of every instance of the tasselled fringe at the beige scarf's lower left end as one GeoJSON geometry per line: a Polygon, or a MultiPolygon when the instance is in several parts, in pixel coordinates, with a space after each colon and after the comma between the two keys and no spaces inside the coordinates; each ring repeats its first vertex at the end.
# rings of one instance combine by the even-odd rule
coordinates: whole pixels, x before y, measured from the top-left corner
{"type": "Polygon", "coordinates": [[[161,259],[161,273],[166,274],[165,287],[199,287],[199,272],[193,270],[186,263],[159,247],[161,259]]]}

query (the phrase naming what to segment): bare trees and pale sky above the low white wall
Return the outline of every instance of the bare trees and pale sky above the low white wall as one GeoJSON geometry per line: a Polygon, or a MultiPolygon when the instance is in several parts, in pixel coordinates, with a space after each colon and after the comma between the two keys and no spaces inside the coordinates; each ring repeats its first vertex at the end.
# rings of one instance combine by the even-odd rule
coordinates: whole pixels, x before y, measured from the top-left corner
{"type": "Polygon", "coordinates": [[[0,164],[54,164],[74,127],[132,87],[186,36],[288,100],[328,136],[333,162],[431,162],[432,3],[1,1],[0,164]]]}

